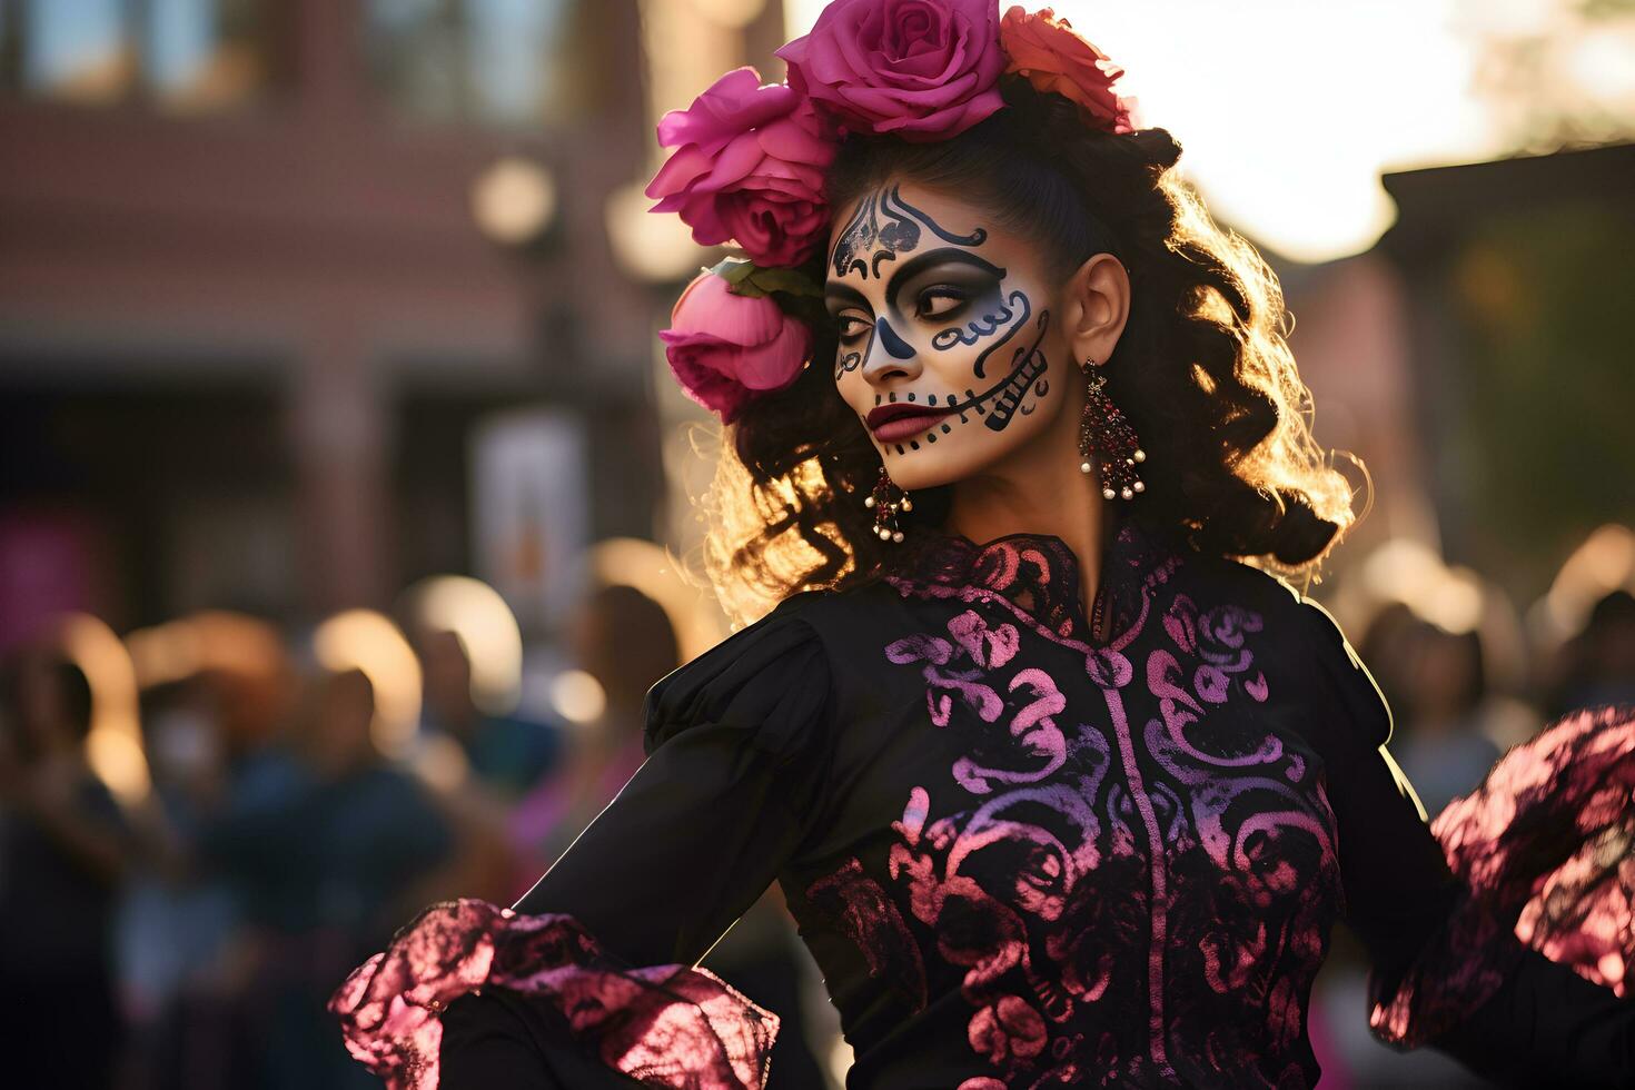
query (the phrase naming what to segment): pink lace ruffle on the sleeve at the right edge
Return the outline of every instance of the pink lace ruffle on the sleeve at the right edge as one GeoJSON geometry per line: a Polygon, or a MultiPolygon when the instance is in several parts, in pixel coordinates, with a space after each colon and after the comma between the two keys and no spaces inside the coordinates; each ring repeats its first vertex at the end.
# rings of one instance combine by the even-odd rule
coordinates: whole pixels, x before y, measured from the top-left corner
{"type": "Polygon", "coordinates": [[[1512,747],[1431,825],[1462,887],[1368,1025],[1416,1048],[1476,1010],[1530,946],[1628,994],[1635,959],[1635,709],[1575,713],[1512,747]]]}

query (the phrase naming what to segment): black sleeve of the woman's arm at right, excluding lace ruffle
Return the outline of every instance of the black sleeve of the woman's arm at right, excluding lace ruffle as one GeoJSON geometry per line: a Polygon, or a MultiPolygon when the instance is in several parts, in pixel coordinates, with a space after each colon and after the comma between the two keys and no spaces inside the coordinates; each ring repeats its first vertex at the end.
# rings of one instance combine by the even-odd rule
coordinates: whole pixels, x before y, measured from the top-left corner
{"type": "Polygon", "coordinates": [[[1373,1034],[1429,1044],[1503,1085],[1635,1085],[1635,1005],[1522,943],[1514,912],[1450,866],[1458,853],[1391,758],[1372,675],[1323,606],[1297,608],[1305,714],[1326,765],[1346,922],[1370,956],[1373,1034]]]}

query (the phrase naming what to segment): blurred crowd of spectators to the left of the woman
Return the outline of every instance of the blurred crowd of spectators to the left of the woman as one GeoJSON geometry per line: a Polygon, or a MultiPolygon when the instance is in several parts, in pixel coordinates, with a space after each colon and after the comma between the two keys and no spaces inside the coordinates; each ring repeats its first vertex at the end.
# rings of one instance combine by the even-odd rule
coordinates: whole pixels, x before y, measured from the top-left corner
{"type": "MultiPolygon", "coordinates": [[[[566,628],[567,714],[518,711],[481,631],[427,616],[96,634],[65,618],[3,663],[7,1085],[379,1085],[324,1002],[425,905],[520,897],[641,763],[646,690],[680,663],[665,610],[616,585],[566,628]]],[[[711,958],[788,1012],[793,943],[768,899],[711,958]]],[[[809,1054],[783,1069],[824,1085],[809,1054]]]]}

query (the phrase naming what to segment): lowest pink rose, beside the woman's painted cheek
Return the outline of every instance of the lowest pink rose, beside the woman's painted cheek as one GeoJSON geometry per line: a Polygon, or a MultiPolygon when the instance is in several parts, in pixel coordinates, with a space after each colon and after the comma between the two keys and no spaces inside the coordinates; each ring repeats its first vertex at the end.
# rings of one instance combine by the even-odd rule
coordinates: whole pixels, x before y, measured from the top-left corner
{"type": "Polygon", "coordinates": [[[714,273],[687,286],[659,337],[682,389],[723,423],[757,395],[793,382],[813,346],[804,322],[770,297],[732,294],[714,273]]]}

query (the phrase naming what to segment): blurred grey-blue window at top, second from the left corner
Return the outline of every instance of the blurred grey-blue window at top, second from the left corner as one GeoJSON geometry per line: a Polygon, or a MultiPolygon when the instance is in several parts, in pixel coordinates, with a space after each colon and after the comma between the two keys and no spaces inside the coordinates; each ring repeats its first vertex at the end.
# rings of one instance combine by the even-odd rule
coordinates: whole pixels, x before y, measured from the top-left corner
{"type": "Polygon", "coordinates": [[[370,72],[420,121],[533,126],[585,106],[576,0],[370,0],[370,72]]]}

